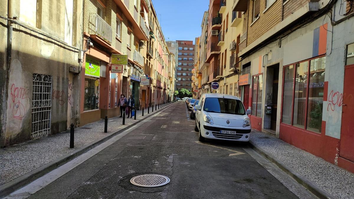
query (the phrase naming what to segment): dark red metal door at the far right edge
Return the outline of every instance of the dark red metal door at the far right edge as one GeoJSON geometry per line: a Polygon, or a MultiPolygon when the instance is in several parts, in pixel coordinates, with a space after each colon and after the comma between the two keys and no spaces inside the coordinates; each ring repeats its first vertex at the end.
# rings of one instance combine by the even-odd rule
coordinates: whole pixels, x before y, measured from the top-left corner
{"type": "MultiPolygon", "coordinates": [[[[344,88],[342,104],[342,127],[341,145],[339,156],[354,161],[354,87],[353,87],[354,65],[346,66],[344,69],[344,88]]],[[[339,96],[339,94],[338,94],[339,96]]],[[[338,97],[339,98],[339,97],[338,97]]],[[[340,100],[338,104],[341,103],[340,100]]]]}

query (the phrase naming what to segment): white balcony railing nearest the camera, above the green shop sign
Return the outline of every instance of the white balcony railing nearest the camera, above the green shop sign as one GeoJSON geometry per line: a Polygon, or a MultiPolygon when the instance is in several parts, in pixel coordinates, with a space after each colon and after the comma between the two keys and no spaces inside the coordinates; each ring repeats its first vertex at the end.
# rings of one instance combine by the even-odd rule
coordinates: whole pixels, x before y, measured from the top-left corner
{"type": "Polygon", "coordinates": [[[95,34],[112,44],[112,27],[97,13],[89,14],[89,34],[95,34]]]}

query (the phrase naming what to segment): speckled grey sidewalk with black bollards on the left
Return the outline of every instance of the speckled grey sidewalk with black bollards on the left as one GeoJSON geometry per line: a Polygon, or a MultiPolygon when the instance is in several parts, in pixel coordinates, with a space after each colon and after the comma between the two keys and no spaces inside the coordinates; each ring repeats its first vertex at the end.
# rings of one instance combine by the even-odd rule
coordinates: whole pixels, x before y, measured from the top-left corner
{"type": "MultiPolygon", "coordinates": [[[[70,153],[73,153],[80,147],[84,147],[87,144],[129,127],[160,110],[164,110],[166,107],[169,106],[160,107],[160,109],[154,110],[154,112],[151,112],[150,108],[150,114],[145,109],[144,116],[141,116],[142,110],[138,110],[136,120],[134,120],[134,117],[126,118],[125,125],[122,125],[123,118],[109,118],[107,133],[104,133],[104,119],[78,127],[75,129],[74,148],[69,148],[70,131],[66,131],[0,149],[0,162],[2,163],[0,164],[0,186],[64,155],[70,155],[70,153]]],[[[64,161],[66,160],[64,159],[64,161]]]]}

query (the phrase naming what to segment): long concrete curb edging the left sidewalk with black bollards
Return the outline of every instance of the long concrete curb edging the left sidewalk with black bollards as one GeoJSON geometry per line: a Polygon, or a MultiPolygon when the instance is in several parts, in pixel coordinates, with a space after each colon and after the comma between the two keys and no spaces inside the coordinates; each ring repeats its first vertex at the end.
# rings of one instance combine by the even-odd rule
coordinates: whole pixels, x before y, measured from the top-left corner
{"type": "MultiPolygon", "coordinates": [[[[50,163],[47,163],[43,166],[38,167],[37,169],[28,172],[27,174],[24,174],[18,178],[15,178],[14,180],[7,182],[6,184],[3,184],[0,186],[0,198],[6,197],[8,194],[16,191],[19,188],[24,187],[25,185],[35,181],[36,179],[40,178],[41,176],[44,176],[45,174],[49,173],[50,171],[58,168],[59,166],[67,163],[70,160],[75,159],[76,157],[78,157],[79,155],[91,150],[92,148],[95,148],[96,146],[98,146],[99,144],[102,144],[103,142],[109,140],[110,138],[118,135],[119,133],[129,129],[130,127],[132,127],[133,125],[136,125],[140,122],[142,122],[143,120],[149,118],[152,115],[155,115],[156,113],[161,112],[162,110],[165,110],[165,108],[170,107],[171,105],[175,104],[175,102],[171,103],[170,105],[167,105],[164,107],[164,109],[160,109],[160,110],[155,110],[153,113],[150,112],[149,115],[146,115],[147,117],[143,118],[142,120],[137,121],[134,124],[131,124],[129,126],[126,126],[122,129],[119,129],[118,131],[115,131],[103,138],[100,138],[96,141],[93,141],[89,144],[86,144],[85,146],[82,146],[76,150],[74,150],[72,153],[68,153],[66,155],[63,155],[60,158],[57,158],[56,160],[51,161],[50,163]]],[[[147,114],[147,113],[146,113],[147,114]]]]}

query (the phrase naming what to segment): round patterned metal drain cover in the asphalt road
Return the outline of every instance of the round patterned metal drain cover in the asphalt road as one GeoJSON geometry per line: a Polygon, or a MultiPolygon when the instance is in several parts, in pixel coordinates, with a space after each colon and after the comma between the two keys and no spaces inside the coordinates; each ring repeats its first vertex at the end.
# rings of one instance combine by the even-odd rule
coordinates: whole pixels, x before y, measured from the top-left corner
{"type": "Polygon", "coordinates": [[[156,174],[135,176],[130,183],[140,187],[160,187],[170,182],[170,178],[156,174]]]}

